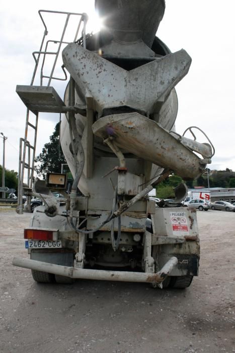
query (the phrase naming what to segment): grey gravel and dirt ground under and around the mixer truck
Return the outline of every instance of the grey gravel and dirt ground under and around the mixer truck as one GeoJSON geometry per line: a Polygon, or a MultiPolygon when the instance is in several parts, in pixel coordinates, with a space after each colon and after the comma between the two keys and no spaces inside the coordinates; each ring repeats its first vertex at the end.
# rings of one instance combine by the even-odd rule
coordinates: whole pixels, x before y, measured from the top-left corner
{"type": "Polygon", "coordinates": [[[235,352],[235,213],[197,212],[200,275],[185,290],[77,280],[37,284],[23,228],[30,214],[0,210],[0,351],[235,352]]]}

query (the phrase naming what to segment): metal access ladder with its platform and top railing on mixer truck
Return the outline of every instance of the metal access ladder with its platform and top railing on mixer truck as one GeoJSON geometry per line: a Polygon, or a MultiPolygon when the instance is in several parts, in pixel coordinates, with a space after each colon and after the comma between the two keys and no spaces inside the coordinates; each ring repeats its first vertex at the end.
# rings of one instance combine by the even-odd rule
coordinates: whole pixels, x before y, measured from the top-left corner
{"type": "MultiPolygon", "coordinates": [[[[47,11],[47,10],[39,10],[38,13],[39,13],[41,21],[43,23],[43,26],[44,26],[44,34],[43,34],[43,38],[42,38],[42,42],[41,42],[41,46],[40,46],[39,51],[33,52],[33,57],[35,60],[35,68],[34,68],[32,80],[31,80],[31,84],[30,84],[30,86],[17,86],[17,88],[19,88],[19,91],[17,90],[17,93],[20,95],[21,99],[23,100],[23,102],[27,106],[25,137],[20,139],[19,174],[18,174],[18,206],[17,206],[17,212],[19,214],[23,214],[23,195],[24,195],[24,193],[26,194],[26,202],[27,202],[27,207],[25,208],[25,211],[27,211],[27,212],[31,211],[30,201],[31,201],[31,193],[32,193],[33,181],[34,181],[34,162],[35,162],[35,152],[36,152],[36,142],[37,142],[38,116],[39,116],[40,111],[45,111],[45,110],[40,109],[40,107],[38,107],[37,109],[32,108],[33,105],[28,103],[27,100],[25,100],[25,97],[27,97],[28,93],[32,95],[34,87],[36,88],[36,90],[35,90],[35,92],[33,92],[33,93],[35,93],[33,103],[35,103],[35,97],[37,97],[37,93],[40,93],[40,92],[38,92],[39,86],[34,86],[34,80],[35,80],[35,76],[36,76],[37,69],[39,66],[40,56],[43,55],[41,70],[40,70],[40,87],[42,88],[42,91],[44,89],[44,92],[45,92],[45,89],[50,87],[51,80],[60,80],[60,81],[67,80],[67,75],[66,75],[66,72],[65,72],[63,66],[62,66],[62,71],[64,73],[64,78],[53,77],[53,74],[55,71],[55,67],[56,67],[59,52],[61,50],[61,46],[62,46],[62,44],[68,44],[68,42],[65,42],[63,39],[64,39],[64,35],[65,35],[65,31],[66,31],[66,28],[68,25],[69,18],[73,15],[81,17],[80,21],[76,27],[76,30],[75,30],[75,36],[74,36],[73,42],[77,41],[77,36],[79,35],[81,25],[83,22],[82,38],[80,39],[80,41],[82,40],[82,45],[84,47],[86,47],[86,24],[87,24],[87,20],[88,20],[87,14],[85,14],[85,13],[84,14],[69,13],[69,12],[60,12],[60,11],[47,11]],[[65,23],[63,26],[60,40],[59,41],[48,40],[45,44],[44,50],[43,50],[43,44],[44,44],[45,37],[48,34],[48,30],[47,30],[47,26],[46,26],[45,21],[42,16],[43,13],[66,15],[66,19],[65,19],[65,23]],[[54,44],[58,44],[58,48],[56,51],[52,51],[52,52],[48,51],[48,44],[51,42],[53,42],[54,44]],[[36,54],[37,54],[37,57],[36,57],[36,54]],[[55,59],[52,64],[52,69],[51,69],[51,73],[49,76],[45,76],[43,74],[45,57],[47,54],[55,55],[55,59]],[[48,79],[48,83],[47,83],[46,87],[43,86],[43,79],[45,79],[45,78],[48,79]],[[22,92],[22,87],[23,87],[23,92],[22,92]],[[26,89],[25,91],[24,91],[24,88],[26,89]],[[33,123],[33,124],[29,121],[30,115],[31,115],[30,111],[35,115],[35,123],[33,123]],[[32,144],[28,141],[28,129],[29,128],[32,128],[33,132],[34,132],[32,144]],[[31,151],[32,151],[32,153],[31,153],[31,151]],[[26,181],[24,182],[25,170],[27,170],[27,182],[26,181]]],[[[48,110],[48,112],[65,112],[66,109],[65,109],[65,106],[64,106],[63,102],[61,101],[60,97],[57,95],[57,93],[53,89],[53,87],[50,87],[50,88],[51,88],[51,90],[47,89],[47,91],[46,91],[48,93],[48,99],[50,101],[51,97],[53,98],[53,100],[54,100],[54,98],[56,98],[57,99],[57,107],[53,107],[53,106],[50,107],[50,110],[48,110]]]]}

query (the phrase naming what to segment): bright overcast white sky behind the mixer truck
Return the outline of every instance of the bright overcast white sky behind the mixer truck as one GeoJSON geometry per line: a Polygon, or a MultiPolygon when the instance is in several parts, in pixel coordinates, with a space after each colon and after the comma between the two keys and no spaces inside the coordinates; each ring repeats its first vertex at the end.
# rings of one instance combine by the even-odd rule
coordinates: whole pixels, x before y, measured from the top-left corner
{"type": "MultiPolygon", "coordinates": [[[[1,5],[1,114],[0,132],[6,141],[6,168],[18,170],[19,139],[24,137],[26,108],[16,85],[29,85],[34,68],[32,52],[39,49],[43,27],[38,10],[87,12],[97,27],[93,0],[40,0],[4,2],[1,5]]],[[[211,169],[235,171],[234,63],[235,2],[233,0],[166,0],[157,35],[172,52],[184,48],[192,57],[188,75],[176,86],[179,111],[176,131],[198,126],[215,146],[211,169]]],[[[147,19],[146,19],[147,21],[147,19]]],[[[60,21],[55,20],[58,25],[60,21]]],[[[59,39],[59,35],[57,38],[59,39]]],[[[72,39],[71,39],[72,40],[72,39]]],[[[54,84],[53,84],[54,86],[54,84]]],[[[59,93],[62,98],[62,85],[59,93]]],[[[39,116],[36,155],[49,141],[58,114],[39,116]]],[[[200,142],[206,142],[201,139],[200,142]]],[[[0,164],[3,139],[0,139],[0,164]]]]}

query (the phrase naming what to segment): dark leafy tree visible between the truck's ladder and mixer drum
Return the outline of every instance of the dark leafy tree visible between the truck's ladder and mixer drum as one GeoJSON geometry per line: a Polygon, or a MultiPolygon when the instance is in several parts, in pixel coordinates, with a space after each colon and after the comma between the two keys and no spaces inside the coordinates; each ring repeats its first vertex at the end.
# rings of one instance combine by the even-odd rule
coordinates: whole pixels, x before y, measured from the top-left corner
{"type": "Polygon", "coordinates": [[[47,172],[60,173],[61,164],[66,163],[59,146],[59,123],[56,124],[49,140],[50,142],[44,145],[42,152],[35,158],[37,163],[35,169],[38,175],[45,175],[47,172]]]}

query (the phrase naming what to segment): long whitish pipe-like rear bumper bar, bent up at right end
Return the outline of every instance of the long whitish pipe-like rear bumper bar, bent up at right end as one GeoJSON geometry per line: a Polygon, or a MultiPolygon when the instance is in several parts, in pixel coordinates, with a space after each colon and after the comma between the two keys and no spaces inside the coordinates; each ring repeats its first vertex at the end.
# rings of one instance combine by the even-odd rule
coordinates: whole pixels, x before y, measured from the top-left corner
{"type": "Polygon", "coordinates": [[[177,263],[178,263],[178,259],[173,256],[160,271],[156,273],[147,273],[147,272],[90,270],[85,268],[75,268],[75,267],[55,265],[47,262],[24,259],[20,257],[14,257],[13,259],[14,266],[29,268],[31,270],[36,270],[36,271],[54,273],[60,276],[66,276],[70,278],[124,281],[124,282],[149,282],[149,283],[162,283],[164,279],[171,273],[171,271],[174,269],[177,263]]]}

